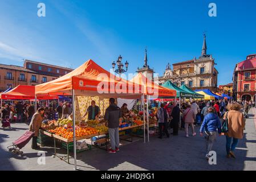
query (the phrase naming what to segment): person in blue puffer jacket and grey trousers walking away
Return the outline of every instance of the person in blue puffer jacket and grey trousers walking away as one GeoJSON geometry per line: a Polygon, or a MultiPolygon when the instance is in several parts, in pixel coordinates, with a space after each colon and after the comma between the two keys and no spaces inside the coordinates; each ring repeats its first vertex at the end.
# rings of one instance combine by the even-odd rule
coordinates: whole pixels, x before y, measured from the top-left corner
{"type": "Polygon", "coordinates": [[[208,108],[208,114],[205,116],[200,128],[201,137],[206,135],[206,159],[209,159],[209,152],[212,151],[213,143],[216,140],[217,130],[219,135],[221,135],[221,121],[215,112],[214,107],[208,108]]]}

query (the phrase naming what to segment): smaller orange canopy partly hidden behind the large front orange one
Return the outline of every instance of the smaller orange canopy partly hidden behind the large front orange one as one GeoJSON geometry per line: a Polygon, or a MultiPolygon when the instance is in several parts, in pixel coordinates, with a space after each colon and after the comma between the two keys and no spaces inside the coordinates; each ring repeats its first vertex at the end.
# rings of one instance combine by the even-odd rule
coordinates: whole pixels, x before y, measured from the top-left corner
{"type": "Polygon", "coordinates": [[[168,89],[157,85],[155,82],[149,80],[142,73],[138,73],[130,80],[136,84],[143,85],[143,92],[146,95],[153,97],[176,97],[176,90],[168,89]]]}

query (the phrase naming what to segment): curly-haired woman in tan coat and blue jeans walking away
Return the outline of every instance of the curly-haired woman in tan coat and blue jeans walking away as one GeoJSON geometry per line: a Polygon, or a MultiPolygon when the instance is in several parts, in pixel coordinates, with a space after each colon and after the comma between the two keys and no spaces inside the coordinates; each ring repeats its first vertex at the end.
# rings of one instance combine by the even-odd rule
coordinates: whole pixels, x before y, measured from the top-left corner
{"type": "Polygon", "coordinates": [[[229,110],[224,115],[224,119],[227,118],[229,131],[225,133],[226,136],[226,152],[227,158],[235,158],[234,150],[237,147],[239,139],[243,138],[243,130],[245,129],[245,118],[243,113],[240,111],[242,106],[237,102],[233,102],[227,105],[229,110]]]}

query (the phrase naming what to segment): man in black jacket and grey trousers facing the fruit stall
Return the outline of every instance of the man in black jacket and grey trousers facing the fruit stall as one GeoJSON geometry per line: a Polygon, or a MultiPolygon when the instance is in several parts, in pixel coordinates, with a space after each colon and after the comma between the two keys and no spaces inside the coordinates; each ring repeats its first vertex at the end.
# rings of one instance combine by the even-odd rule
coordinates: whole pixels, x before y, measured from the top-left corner
{"type": "Polygon", "coordinates": [[[104,119],[108,121],[108,133],[111,142],[110,154],[119,151],[119,118],[121,118],[121,109],[115,104],[115,98],[109,99],[109,107],[105,111],[104,119]]]}

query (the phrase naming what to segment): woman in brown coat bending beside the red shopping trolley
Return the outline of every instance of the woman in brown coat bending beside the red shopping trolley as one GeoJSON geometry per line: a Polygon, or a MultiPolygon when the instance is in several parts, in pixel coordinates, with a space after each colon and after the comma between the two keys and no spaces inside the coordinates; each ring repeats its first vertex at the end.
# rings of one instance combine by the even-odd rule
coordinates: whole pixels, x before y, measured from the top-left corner
{"type": "Polygon", "coordinates": [[[42,124],[43,117],[42,115],[44,114],[44,109],[41,107],[37,110],[37,112],[32,116],[30,125],[29,125],[29,131],[32,131],[34,133],[32,137],[32,149],[39,149],[40,147],[37,145],[36,140],[39,135],[39,129],[42,124]]]}

